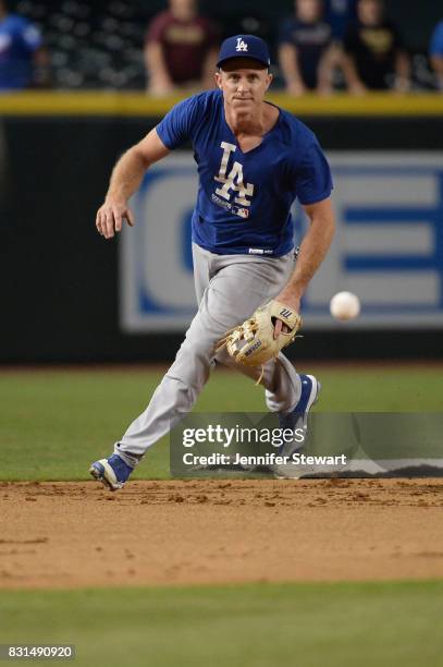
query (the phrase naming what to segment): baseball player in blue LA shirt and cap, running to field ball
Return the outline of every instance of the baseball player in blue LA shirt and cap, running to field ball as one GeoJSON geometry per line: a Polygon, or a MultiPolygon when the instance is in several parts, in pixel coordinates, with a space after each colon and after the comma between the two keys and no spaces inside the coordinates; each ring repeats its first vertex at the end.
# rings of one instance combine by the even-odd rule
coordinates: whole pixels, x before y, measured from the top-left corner
{"type": "MultiPolygon", "coordinates": [[[[282,354],[263,368],[241,366],[225,349],[225,332],[275,299],[282,313],[300,298],[324,258],[334,218],[329,165],[313,133],[287,111],[264,101],[271,84],[267,44],[236,35],[221,46],[217,88],[176,105],[118,161],[97,214],[104,239],[134,225],[128,207],[145,171],[190,141],[199,187],[193,214],[193,258],[198,312],[174,363],[146,408],[108,459],[90,466],[110,489],[121,488],[145,452],[192,408],[216,363],[235,366],[266,389],[268,409],[282,427],[305,420],[320,391],[282,354]],[[291,206],[298,197],[310,220],[295,262],[291,206]]],[[[173,196],[173,193],[171,193],[173,196]]],[[[167,221],[165,221],[167,223],[167,221]]],[[[282,317],[284,319],[284,317],[282,317]]],[[[273,319],[274,337],[285,331],[273,319]]]]}

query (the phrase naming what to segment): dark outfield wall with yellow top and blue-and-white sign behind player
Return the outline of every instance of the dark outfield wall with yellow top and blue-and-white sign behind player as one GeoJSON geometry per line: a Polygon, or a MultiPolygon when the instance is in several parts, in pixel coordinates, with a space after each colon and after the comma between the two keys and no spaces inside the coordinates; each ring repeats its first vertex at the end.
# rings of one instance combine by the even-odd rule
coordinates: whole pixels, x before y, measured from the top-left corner
{"type": "MultiPolygon", "coordinates": [[[[443,100],[274,99],[299,109],[317,132],[335,168],[340,209],[340,252],[331,255],[333,268],[330,262],[308,294],[306,336],[297,341],[297,357],[441,356],[443,100]],[[378,284],[372,301],[368,274],[378,284]],[[329,318],[327,302],[337,289],[366,290],[365,318],[357,325],[339,328],[329,318]]],[[[164,298],[174,298],[177,276],[180,293],[184,289],[186,294],[175,317],[153,327],[146,322],[134,326],[126,316],[127,299],[122,299],[134,269],[131,259],[122,262],[130,246],[103,241],[94,226],[114,160],[173,101],[107,94],[0,99],[1,362],[173,356],[193,310],[186,251],[172,245],[176,235],[167,241],[171,230],[163,219],[149,225],[152,215],[146,227],[140,218],[136,233],[125,235],[131,245],[143,230],[157,233],[156,247],[149,244],[147,253],[174,279],[164,283],[164,298]]],[[[192,179],[189,156],[175,155],[185,181],[192,179]]],[[[185,191],[183,201],[168,201],[183,221],[184,242],[192,189],[185,191]]],[[[157,294],[161,288],[158,280],[157,294]]]]}

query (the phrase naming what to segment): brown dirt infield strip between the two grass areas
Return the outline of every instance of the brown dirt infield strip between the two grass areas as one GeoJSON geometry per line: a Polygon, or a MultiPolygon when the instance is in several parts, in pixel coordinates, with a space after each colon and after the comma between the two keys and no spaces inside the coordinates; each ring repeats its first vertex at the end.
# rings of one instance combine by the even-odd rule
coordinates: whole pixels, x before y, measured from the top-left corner
{"type": "Polygon", "coordinates": [[[0,589],[443,575],[442,480],[0,483],[0,589]]]}

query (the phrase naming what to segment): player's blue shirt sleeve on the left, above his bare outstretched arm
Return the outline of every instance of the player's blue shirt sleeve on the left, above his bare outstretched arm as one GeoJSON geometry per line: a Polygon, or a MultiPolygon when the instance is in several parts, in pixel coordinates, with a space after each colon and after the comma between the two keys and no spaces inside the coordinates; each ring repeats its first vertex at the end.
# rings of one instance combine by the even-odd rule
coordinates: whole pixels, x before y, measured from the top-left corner
{"type": "Polygon", "coordinates": [[[194,95],[175,105],[157,125],[157,134],[167,148],[173,150],[194,138],[202,117],[204,105],[200,95],[194,95]]]}

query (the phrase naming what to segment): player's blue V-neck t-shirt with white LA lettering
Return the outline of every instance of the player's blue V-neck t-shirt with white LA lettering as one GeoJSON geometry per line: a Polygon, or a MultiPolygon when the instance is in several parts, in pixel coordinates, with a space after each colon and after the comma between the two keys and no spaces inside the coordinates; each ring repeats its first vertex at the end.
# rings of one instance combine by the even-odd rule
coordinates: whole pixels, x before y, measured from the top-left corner
{"type": "Polygon", "coordinates": [[[199,186],[193,241],[212,253],[281,256],[294,245],[291,206],[330,196],[331,171],[315,134],[280,109],[259,146],[243,153],[221,90],[194,95],[157,125],[163,144],[192,141],[199,186]]]}

